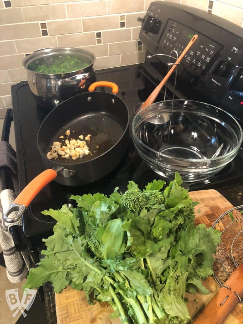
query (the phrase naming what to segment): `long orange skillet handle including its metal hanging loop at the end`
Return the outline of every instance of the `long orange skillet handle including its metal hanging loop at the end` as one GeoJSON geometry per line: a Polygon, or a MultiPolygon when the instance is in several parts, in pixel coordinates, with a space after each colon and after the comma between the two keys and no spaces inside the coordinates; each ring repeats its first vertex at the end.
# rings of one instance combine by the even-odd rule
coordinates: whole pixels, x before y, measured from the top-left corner
{"type": "Polygon", "coordinates": [[[35,196],[57,176],[57,172],[53,169],[48,169],[41,172],[20,192],[15,201],[10,205],[8,210],[4,213],[4,220],[7,223],[16,222],[24,213],[28,205],[35,198],[35,196]],[[16,217],[9,217],[13,211],[18,211],[16,217]]]}

